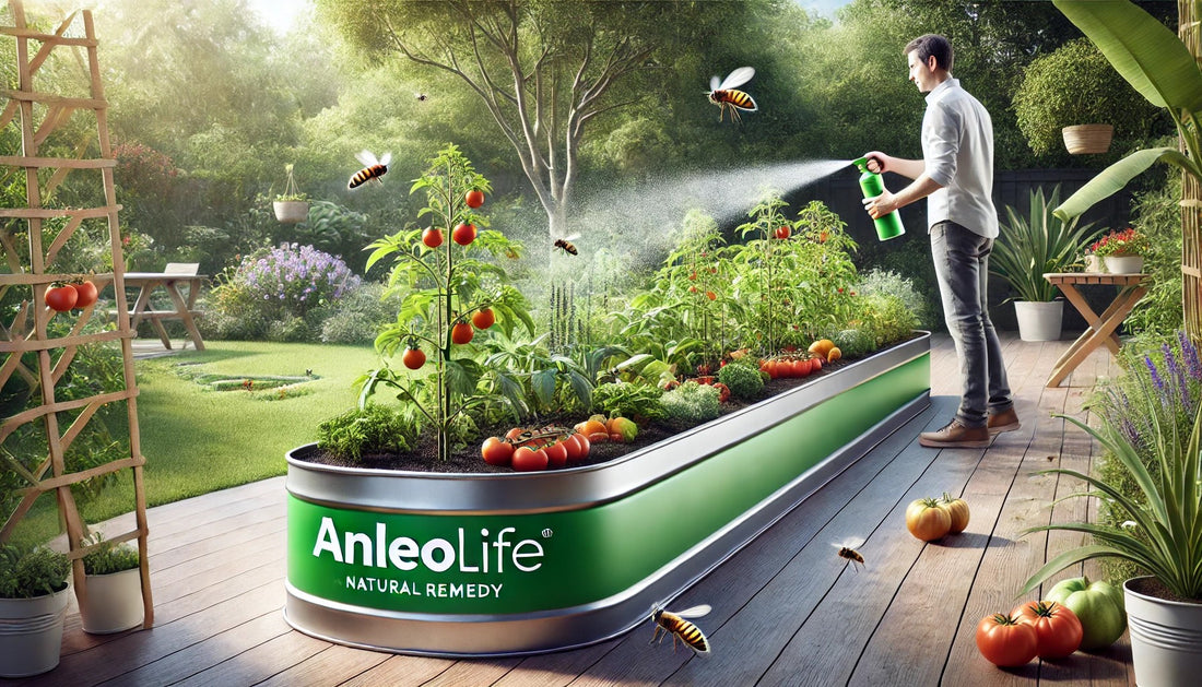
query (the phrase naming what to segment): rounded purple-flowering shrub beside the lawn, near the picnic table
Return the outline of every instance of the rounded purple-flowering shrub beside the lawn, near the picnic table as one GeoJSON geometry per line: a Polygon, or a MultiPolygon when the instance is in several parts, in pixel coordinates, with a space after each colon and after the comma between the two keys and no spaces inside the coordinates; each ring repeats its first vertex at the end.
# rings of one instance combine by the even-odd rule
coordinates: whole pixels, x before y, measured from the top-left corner
{"type": "Polygon", "coordinates": [[[338,300],[362,281],[341,258],[313,246],[284,244],[243,258],[236,281],[268,310],[304,317],[316,305],[338,300]]]}

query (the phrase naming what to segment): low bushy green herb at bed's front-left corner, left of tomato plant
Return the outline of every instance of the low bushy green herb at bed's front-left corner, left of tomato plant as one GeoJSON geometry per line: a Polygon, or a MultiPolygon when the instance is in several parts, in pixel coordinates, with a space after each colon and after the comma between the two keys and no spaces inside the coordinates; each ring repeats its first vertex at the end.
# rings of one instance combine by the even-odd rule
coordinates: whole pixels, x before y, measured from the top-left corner
{"type": "Polygon", "coordinates": [[[317,447],[355,462],[364,454],[407,450],[416,438],[411,418],[380,404],[365,404],[317,425],[317,447]]]}

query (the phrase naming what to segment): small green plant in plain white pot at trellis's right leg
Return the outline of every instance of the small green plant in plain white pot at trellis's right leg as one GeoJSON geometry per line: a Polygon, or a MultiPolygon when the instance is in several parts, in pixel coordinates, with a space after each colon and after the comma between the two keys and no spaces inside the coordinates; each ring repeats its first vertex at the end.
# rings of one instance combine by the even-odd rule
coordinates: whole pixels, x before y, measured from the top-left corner
{"type": "Polygon", "coordinates": [[[142,569],[138,551],[127,543],[106,542],[95,532],[81,542],[95,546],[83,557],[88,593],[79,604],[83,631],[91,634],[123,632],[142,623],[142,569]]]}

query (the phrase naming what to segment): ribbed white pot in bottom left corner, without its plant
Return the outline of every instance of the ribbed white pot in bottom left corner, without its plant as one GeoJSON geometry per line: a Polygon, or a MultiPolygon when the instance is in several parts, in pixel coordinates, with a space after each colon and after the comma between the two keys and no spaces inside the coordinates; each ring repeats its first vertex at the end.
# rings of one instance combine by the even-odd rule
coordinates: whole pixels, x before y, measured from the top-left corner
{"type": "Polygon", "coordinates": [[[30,599],[0,599],[0,677],[53,670],[63,649],[67,590],[30,599]]]}

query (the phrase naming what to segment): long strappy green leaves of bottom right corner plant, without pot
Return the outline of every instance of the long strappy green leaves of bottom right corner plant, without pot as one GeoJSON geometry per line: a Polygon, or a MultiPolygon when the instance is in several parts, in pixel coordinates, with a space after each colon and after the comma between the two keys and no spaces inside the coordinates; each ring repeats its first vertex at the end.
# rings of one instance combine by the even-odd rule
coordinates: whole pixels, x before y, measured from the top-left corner
{"type": "MultiPolygon", "coordinates": [[[[1125,352],[1127,374],[1103,387],[1093,407],[1099,428],[1066,417],[1089,432],[1107,454],[1108,482],[1072,470],[1051,470],[1089,484],[1107,513],[1097,524],[1072,522],[1033,527],[1027,532],[1069,530],[1093,537],[1094,544],[1065,551],[1047,562],[1022,593],[1057,572],[1090,558],[1133,563],[1183,599],[1202,599],[1202,362],[1194,344],[1180,334],[1156,352],[1125,352]],[[1132,490],[1132,483],[1135,489],[1132,490]],[[1119,522],[1118,526],[1114,524],[1119,522]]],[[[1065,417],[1065,416],[1058,416],[1065,417]]]]}

